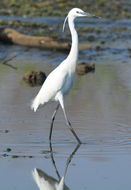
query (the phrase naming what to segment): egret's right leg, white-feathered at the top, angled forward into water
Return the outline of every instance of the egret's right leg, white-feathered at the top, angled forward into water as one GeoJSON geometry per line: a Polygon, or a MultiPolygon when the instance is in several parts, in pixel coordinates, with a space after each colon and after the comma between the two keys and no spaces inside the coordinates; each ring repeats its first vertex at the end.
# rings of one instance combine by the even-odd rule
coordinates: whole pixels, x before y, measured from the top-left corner
{"type": "Polygon", "coordinates": [[[64,100],[63,100],[63,96],[62,95],[59,96],[59,102],[60,102],[60,105],[61,105],[63,113],[64,113],[66,124],[68,125],[68,127],[69,127],[70,131],[72,132],[72,134],[75,136],[78,144],[81,144],[81,141],[80,141],[79,137],[77,136],[76,132],[74,131],[74,129],[73,129],[70,121],[67,119],[66,112],[65,112],[65,107],[64,107],[64,100]]]}

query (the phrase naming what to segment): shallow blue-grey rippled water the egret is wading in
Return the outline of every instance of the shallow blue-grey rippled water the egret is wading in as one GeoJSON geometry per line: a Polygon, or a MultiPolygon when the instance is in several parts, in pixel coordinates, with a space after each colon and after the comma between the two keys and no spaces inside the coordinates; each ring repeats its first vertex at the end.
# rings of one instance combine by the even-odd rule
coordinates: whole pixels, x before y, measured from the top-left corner
{"type": "MultiPolygon", "coordinates": [[[[51,19],[51,18],[50,18],[51,19]]],[[[76,76],[65,100],[67,114],[82,140],[68,168],[66,184],[71,190],[131,189],[131,47],[130,24],[125,21],[82,21],[80,26],[103,28],[92,48],[80,52],[80,60],[92,60],[95,73],[76,76]],[[121,32],[113,27],[124,26],[121,32]],[[112,33],[111,33],[112,32],[112,33]],[[96,51],[100,39],[106,43],[96,51]],[[114,40],[113,40],[114,39],[114,40]]],[[[86,40],[86,32],[81,40],[86,40]]],[[[87,42],[89,43],[89,42],[87,42]]],[[[59,52],[0,45],[3,54],[20,53],[11,67],[0,65],[0,182],[2,190],[37,189],[31,171],[38,167],[56,177],[49,152],[48,134],[55,104],[36,114],[30,102],[40,87],[22,82],[23,74],[41,69],[47,74],[66,55],[59,52]],[[9,148],[11,150],[9,150],[9,148]]],[[[53,151],[61,175],[76,142],[59,110],[53,131],[53,151]]]]}

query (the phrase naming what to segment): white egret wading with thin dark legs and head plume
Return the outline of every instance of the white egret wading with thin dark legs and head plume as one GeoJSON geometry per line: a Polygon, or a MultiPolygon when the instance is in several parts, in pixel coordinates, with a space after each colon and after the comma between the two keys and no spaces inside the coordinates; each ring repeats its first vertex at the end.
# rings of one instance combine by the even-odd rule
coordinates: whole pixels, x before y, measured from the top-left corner
{"type": "Polygon", "coordinates": [[[58,102],[58,105],[52,115],[49,140],[51,141],[53,123],[60,105],[63,110],[67,126],[75,136],[77,142],[81,144],[79,137],[72,128],[71,123],[69,122],[66,116],[65,107],[64,107],[64,96],[72,88],[74,73],[76,70],[76,63],[78,59],[78,45],[79,45],[78,35],[74,25],[74,20],[76,17],[95,17],[95,16],[86,13],[79,8],[73,8],[69,11],[63,24],[63,30],[65,27],[66,20],[68,19],[69,29],[72,38],[70,53],[67,56],[67,58],[64,61],[62,61],[62,63],[48,75],[39,93],[33,100],[31,108],[32,110],[34,110],[34,112],[36,112],[36,110],[40,105],[45,105],[49,101],[58,102]]]}

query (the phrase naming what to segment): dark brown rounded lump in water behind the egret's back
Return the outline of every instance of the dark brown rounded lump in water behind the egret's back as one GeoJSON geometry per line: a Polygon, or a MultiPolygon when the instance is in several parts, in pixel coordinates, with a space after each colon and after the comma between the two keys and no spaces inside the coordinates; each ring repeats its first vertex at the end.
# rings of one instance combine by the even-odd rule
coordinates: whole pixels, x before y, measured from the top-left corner
{"type": "Polygon", "coordinates": [[[23,80],[30,86],[41,86],[45,79],[46,74],[42,71],[29,71],[23,76],[23,80]]]}

